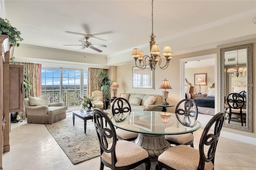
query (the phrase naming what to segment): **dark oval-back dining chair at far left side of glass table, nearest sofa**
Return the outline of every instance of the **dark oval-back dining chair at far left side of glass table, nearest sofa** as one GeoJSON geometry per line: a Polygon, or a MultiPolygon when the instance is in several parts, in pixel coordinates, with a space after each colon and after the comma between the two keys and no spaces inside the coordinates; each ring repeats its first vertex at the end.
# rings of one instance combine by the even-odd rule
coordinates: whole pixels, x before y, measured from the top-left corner
{"type": "MultiPolygon", "coordinates": [[[[125,120],[124,113],[132,111],[128,100],[118,97],[112,103],[112,115],[116,121],[122,122],[125,120]]],[[[129,126],[129,125],[127,125],[129,126]]],[[[116,128],[116,135],[118,139],[133,141],[138,137],[138,133],[130,132],[121,128],[116,128]]]]}

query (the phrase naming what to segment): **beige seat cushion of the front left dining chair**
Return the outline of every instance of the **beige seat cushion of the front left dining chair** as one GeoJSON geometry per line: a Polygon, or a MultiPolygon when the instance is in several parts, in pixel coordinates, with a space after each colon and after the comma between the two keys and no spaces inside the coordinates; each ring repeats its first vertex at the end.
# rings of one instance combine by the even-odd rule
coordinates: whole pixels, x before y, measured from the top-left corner
{"type": "MultiPolygon", "coordinates": [[[[111,147],[111,146],[110,146],[111,147]]],[[[111,153],[103,152],[101,158],[111,164],[111,153]]],[[[142,147],[127,140],[118,140],[116,143],[116,166],[127,166],[148,158],[148,152],[142,147]]]]}

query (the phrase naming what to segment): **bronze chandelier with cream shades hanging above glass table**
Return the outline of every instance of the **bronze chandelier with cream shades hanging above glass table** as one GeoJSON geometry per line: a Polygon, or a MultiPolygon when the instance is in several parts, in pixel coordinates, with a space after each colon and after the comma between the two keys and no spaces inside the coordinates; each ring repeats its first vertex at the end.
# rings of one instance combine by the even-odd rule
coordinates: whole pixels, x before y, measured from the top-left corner
{"type": "Polygon", "coordinates": [[[140,68],[140,69],[145,69],[147,64],[146,64],[146,59],[148,58],[148,65],[150,66],[151,70],[152,69],[156,69],[156,65],[158,63],[158,66],[160,69],[166,69],[168,67],[169,61],[172,59],[172,50],[171,50],[171,46],[167,45],[164,47],[164,51],[163,51],[163,55],[166,59],[166,63],[165,65],[163,65],[162,67],[161,62],[162,62],[162,58],[160,57],[159,53],[160,49],[158,44],[155,44],[155,40],[154,38],[156,38],[156,36],[154,36],[154,32],[153,32],[153,1],[152,0],[152,33],[150,36],[150,56],[149,55],[144,55],[143,51],[139,51],[138,48],[134,48],[132,50],[132,57],[134,57],[135,60],[135,65],[136,67],[140,68]],[[139,65],[137,65],[137,60],[139,61],[139,65]]]}

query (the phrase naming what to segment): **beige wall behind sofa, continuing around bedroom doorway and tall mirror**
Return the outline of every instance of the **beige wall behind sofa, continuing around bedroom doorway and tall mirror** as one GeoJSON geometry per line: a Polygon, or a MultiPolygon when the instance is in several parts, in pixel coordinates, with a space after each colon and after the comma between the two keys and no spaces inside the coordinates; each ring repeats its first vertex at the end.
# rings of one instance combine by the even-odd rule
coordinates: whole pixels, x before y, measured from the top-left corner
{"type": "MultiPolygon", "coordinates": [[[[165,70],[157,68],[155,71],[155,90],[143,90],[143,89],[132,89],[132,67],[135,66],[134,62],[132,64],[122,65],[117,67],[117,81],[120,84],[120,88],[118,89],[118,95],[120,93],[145,93],[145,94],[156,94],[161,95],[162,89],[159,89],[160,84],[164,78],[169,80],[172,89],[169,89],[169,95],[167,102],[170,104],[176,105],[180,101],[180,59],[188,58],[188,57],[196,57],[201,55],[208,55],[217,53],[217,83],[216,87],[218,88],[217,94],[217,111],[220,112],[220,48],[231,47],[234,45],[242,45],[246,43],[253,43],[253,56],[252,58],[256,58],[256,39],[246,40],[242,42],[235,42],[225,45],[220,45],[216,49],[209,49],[204,51],[197,51],[194,53],[187,53],[183,55],[177,55],[172,58],[170,61],[169,67],[165,70]]],[[[214,74],[214,73],[213,73],[214,74]]],[[[252,75],[256,75],[256,62],[252,62],[252,75]]],[[[255,77],[255,76],[254,76],[255,77]]],[[[252,82],[255,84],[256,79],[253,77],[252,82]]],[[[194,80],[193,80],[194,81],[194,80]]],[[[193,82],[192,81],[192,82],[193,82]]],[[[208,81],[209,83],[213,83],[214,79],[208,81]]],[[[207,86],[208,86],[207,85],[207,86]]],[[[255,116],[255,108],[256,106],[256,93],[255,87],[252,88],[252,133],[244,132],[240,130],[233,130],[231,128],[223,128],[223,131],[231,132],[234,134],[241,134],[244,136],[249,136],[252,138],[256,138],[255,134],[255,123],[256,123],[256,116],[255,116]]],[[[174,112],[174,107],[169,107],[168,112],[174,112]]]]}

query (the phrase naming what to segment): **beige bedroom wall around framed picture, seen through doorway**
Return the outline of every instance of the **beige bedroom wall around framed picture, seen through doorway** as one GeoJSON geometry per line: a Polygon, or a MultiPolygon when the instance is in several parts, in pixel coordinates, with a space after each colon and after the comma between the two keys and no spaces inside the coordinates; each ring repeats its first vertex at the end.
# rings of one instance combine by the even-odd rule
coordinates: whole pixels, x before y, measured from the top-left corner
{"type": "Polygon", "coordinates": [[[208,87],[211,87],[212,83],[214,83],[214,81],[215,81],[214,66],[185,69],[185,78],[194,87],[194,93],[199,92],[198,91],[198,85],[194,84],[194,74],[198,74],[198,73],[206,73],[206,82],[207,82],[207,84],[206,85],[200,85],[200,86],[201,86],[201,93],[204,94],[204,91],[206,91],[206,94],[207,94],[208,87]]]}

